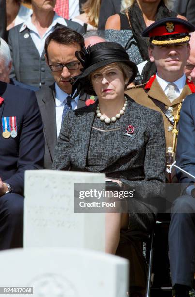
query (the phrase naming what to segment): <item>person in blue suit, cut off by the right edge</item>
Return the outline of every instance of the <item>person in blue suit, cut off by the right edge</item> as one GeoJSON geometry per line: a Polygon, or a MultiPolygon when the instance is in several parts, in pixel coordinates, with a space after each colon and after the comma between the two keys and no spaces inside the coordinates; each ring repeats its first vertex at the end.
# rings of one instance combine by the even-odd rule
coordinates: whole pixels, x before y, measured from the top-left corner
{"type": "MultiPolygon", "coordinates": [[[[195,94],[187,96],[181,108],[177,165],[195,176],[195,94]]],[[[170,268],[174,296],[188,297],[195,271],[195,181],[180,173],[180,182],[185,190],[174,201],[171,212],[170,268]]]]}

